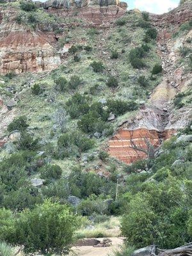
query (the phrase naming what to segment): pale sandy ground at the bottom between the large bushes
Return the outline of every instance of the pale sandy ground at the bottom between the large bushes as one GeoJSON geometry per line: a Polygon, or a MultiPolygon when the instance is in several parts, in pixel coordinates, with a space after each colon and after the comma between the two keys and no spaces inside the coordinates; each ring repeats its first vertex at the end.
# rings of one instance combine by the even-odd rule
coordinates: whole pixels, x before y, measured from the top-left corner
{"type": "MultiPolygon", "coordinates": [[[[113,255],[114,250],[117,250],[120,245],[124,243],[124,237],[110,237],[112,246],[109,247],[93,247],[93,246],[76,246],[72,247],[74,255],[77,256],[110,256],[113,255]]],[[[102,238],[99,238],[102,240],[102,238]]],[[[73,253],[70,254],[72,256],[73,253]]]]}

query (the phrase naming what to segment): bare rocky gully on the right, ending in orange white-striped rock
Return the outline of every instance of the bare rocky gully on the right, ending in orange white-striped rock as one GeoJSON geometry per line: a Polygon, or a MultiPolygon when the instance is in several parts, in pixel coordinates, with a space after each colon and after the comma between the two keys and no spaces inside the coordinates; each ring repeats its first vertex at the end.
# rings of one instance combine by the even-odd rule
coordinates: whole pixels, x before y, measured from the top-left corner
{"type": "Polygon", "coordinates": [[[163,66],[163,81],[150,95],[148,106],[143,106],[140,113],[120,126],[117,134],[109,140],[109,154],[124,161],[133,163],[147,157],[147,154],[132,147],[147,148],[146,140],[154,147],[159,147],[163,140],[186,127],[190,122],[191,106],[175,109],[172,99],[179,92],[188,90],[192,84],[191,72],[186,72],[186,65],[180,63],[180,49],[189,47],[188,38],[191,31],[181,35],[177,40],[172,38],[173,32],[186,21],[191,20],[191,3],[165,15],[152,15],[158,31],[157,51],[163,66]]]}

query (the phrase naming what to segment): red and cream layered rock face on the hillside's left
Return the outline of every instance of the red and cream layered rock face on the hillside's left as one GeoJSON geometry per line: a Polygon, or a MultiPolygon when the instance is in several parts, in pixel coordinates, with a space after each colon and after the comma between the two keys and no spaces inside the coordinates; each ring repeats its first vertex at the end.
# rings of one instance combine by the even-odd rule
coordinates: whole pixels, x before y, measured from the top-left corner
{"type": "Polygon", "coordinates": [[[59,54],[44,35],[35,31],[19,30],[9,24],[6,28],[8,33],[0,28],[0,74],[41,72],[60,65],[59,54]]]}

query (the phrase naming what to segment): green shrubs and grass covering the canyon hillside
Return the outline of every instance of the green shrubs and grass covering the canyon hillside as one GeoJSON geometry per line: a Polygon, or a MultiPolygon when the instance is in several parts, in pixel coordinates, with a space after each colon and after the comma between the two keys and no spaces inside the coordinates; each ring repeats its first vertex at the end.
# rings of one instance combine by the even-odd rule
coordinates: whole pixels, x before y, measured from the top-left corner
{"type": "MultiPolygon", "coordinates": [[[[106,152],[109,136],[134,117],[162,79],[157,30],[148,13],[127,12],[104,35],[83,26],[63,31],[62,18],[33,3],[15,5],[19,24],[35,29],[46,20],[60,34],[58,47],[73,45],[67,65],[43,79],[1,77],[2,94],[13,98],[20,93],[20,115],[6,131],[14,139],[0,151],[0,254],[14,255],[17,244],[26,253],[68,253],[76,238],[107,236],[102,225],[109,227],[111,216],[120,217],[127,237],[121,256],[152,243],[174,248],[191,241],[191,143],[178,140],[191,134],[191,126],[166,141],[152,161],[127,166],[106,152]],[[90,235],[90,225],[102,228],[90,235]]],[[[78,17],[74,20],[82,25],[78,17]]],[[[181,31],[191,25],[185,26],[181,31]]],[[[188,62],[190,54],[180,49],[188,62]]],[[[180,109],[190,102],[191,90],[186,90],[173,105],[180,109]]]]}

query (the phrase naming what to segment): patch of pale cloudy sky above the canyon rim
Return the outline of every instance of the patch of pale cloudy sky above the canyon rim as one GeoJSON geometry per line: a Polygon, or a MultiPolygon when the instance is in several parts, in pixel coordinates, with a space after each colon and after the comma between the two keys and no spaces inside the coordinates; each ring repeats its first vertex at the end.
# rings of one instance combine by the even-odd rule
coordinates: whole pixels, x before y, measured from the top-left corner
{"type": "Polygon", "coordinates": [[[141,11],[152,13],[168,12],[169,8],[175,8],[179,4],[179,0],[125,0],[129,9],[138,8],[141,11]]]}

